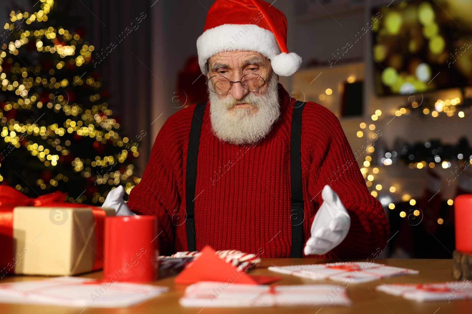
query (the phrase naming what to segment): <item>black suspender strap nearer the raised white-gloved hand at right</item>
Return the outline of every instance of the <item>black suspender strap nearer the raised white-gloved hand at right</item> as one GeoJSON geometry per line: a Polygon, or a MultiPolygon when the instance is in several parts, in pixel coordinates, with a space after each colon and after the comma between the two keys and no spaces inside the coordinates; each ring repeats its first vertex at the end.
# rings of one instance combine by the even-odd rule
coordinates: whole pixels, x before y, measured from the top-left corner
{"type": "Polygon", "coordinates": [[[302,257],[303,246],[303,195],[302,195],[302,111],[304,102],[295,101],[292,113],[292,129],[290,135],[290,181],[292,188],[292,253],[291,258],[302,257]]]}

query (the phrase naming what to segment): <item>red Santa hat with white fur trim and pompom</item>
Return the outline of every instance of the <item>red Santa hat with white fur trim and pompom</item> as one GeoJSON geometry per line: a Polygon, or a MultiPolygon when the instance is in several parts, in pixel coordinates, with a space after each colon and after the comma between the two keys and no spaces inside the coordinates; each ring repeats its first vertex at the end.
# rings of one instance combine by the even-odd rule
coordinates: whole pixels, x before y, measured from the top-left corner
{"type": "Polygon", "coordinates": [[[203,34],[197,39],[202,73],[208,58],[234,50],[259,52],[281,76],[292,75],[302,64],[300,56],[287,50],[287,18],[261,0],[216,0],[208,10],[203,34]]]}

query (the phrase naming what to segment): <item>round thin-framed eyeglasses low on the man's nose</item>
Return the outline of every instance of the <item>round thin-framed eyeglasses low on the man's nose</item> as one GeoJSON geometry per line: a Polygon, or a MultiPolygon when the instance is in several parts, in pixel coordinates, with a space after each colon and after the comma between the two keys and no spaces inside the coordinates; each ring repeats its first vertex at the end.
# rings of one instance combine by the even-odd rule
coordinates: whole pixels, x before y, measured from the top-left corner
{"type": "Polygon", "coordinates": [[[269,61],[269,67],[267,68],[265,79],[262,78],[261,75],[256,74],[256,73],[247,73],[243,75],[243,77],[241,77],[240,81],[229,81],[229,79],[223,75],[213,75],[211,78],[209,78],[206,81],[205,85],[208,87],[208,89],[210,89],[213,93],[216,93],[216,94],[228,93],[228,91],[233,87],[233,83],[240,83],[244,89],[255,92],[255,91],[261,90],[264,87],[267,81],[267,77],[269,76],[269,69],[270,69],[270,61],[269,61]],[[210,80],[211,80],[212,87],[210,87],[210,85],[208,84],[210,80]],[[221,86],[221,87],[217,88],[215,85],[221,86]],[[226,88],[226,86],[228,86],[228,88],[226,88]],[[224,91],[217,92],[216,90],[224,90],[224,91]]]}

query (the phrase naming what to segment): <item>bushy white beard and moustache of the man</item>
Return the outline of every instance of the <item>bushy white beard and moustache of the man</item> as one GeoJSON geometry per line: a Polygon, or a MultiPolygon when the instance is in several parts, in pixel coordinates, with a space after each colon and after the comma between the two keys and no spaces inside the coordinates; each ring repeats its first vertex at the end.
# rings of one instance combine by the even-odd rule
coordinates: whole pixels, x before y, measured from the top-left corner
{"type": "Polygon", "coordinates": [[[213,132],[220,140],[231,144],[258,142],[270,132],[280,114],[277,75],[272,75],[265,92],[259,96],[250,92],[242,99],[236,100],[231,94],[220,99],[218,94],[210,90],[208,93],[213,132]],[[257,111],[254,113],[254,108],[238,108],[230,112],[235,105],[243,103],[253,105],[257,111]]]}

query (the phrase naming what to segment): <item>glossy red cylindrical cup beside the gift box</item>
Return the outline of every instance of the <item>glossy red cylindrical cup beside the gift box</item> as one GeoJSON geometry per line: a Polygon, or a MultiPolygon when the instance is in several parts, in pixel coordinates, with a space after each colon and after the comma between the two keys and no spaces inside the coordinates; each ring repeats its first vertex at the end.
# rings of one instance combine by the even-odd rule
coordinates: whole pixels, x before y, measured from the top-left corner
{"type": "Polygon", "coordinates": [[[155,216],[106,217],[103,279],[111,283],[156,280],[159,256],[157,232],[155,216]]]}

